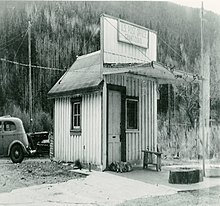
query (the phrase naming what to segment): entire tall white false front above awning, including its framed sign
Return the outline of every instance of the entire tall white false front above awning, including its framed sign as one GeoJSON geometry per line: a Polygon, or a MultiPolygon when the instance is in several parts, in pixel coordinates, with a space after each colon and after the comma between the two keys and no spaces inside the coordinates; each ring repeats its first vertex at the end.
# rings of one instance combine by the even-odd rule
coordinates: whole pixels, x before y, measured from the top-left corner
{"type": "Polygon", "coordinates": [[[157,60],[157,34],[112,16],[101,16],[104,63],[147,63],[157,60]]]}

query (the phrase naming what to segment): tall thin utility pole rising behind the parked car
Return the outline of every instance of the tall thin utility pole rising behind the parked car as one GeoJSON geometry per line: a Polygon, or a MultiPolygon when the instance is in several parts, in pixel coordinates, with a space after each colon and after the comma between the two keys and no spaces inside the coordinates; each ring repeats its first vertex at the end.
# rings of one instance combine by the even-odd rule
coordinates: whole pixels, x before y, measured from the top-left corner
{"type": "Polygon", "coordinates": [[[28,21],[28,59],[29,59],[29,115],[30,115],[30,132],[33,131],[32,117],[32,81],[31,81],[31,21],[28,21]]]}

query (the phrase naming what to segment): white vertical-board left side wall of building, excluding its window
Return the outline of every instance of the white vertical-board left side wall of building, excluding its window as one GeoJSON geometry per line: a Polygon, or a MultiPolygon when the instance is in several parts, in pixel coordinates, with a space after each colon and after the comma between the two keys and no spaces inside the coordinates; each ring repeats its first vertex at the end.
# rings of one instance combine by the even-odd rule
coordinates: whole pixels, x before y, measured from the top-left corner
{"type": "Polygon", "coordinates": [[[55,100],[55,158],[101,164],[101,93],[82,96],[82,133],[70,135],[70,97],[55,100]]]}

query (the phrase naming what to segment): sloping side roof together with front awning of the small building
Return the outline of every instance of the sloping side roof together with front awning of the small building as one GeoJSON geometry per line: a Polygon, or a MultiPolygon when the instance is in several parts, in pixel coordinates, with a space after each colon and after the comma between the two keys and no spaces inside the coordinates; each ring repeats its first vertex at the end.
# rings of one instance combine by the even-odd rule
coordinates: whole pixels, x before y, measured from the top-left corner
{"type": "Polygon", "coordinates": [[[93,52],[77,58],[68,71],[49,91],[50,97],[81,93],[83,90],[100,89],[103,75],[129,73],[155,78],[160,84],[176,83],[179,73],[170,71],[157,62],[145,64],[104,64],[101,66],[101,52],[93,52]]]}

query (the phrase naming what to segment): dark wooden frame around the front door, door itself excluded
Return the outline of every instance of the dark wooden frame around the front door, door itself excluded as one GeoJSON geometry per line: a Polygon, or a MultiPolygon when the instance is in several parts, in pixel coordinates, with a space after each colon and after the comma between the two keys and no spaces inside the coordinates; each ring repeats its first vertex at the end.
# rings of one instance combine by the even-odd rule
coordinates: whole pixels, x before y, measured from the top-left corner
{"type": "Polygon", "coordinates": [[[120,128],[120,139],[121,139],[121,161],[126,162],[126,133],[125,133],[125,102],[126,102],[126,87],[107,84],[107,129],[106,129],[106,165],[109,165],[108,162],[108,117],[109,117],[109,90],[118,91],[121,93],[121,128],[120,128]]]}

